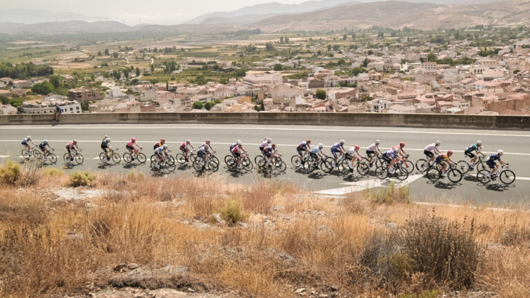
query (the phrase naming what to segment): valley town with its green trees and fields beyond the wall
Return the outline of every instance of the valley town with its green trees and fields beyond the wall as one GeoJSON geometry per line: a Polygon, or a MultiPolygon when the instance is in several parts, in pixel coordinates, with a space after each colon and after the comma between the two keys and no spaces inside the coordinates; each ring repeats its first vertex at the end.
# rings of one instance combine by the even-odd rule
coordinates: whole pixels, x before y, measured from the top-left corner
{"type": "Polygon", "coordinates": [[[277,39],[255,30],[202,46],[121,41],[37,57],[41,43],[14,41],[6,49],[30,51],[21,64],[0,65],[0,110],[527,115],[528,30],[371,28],[277,39]]]}

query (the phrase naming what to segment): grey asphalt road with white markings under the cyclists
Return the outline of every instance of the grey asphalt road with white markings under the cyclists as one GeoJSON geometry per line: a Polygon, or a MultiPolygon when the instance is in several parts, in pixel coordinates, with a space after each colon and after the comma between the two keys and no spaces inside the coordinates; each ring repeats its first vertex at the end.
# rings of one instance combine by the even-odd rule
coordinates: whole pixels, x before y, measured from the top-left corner
{"type": "MultiPolygon", "coordinates": [[[[99,161],[101,148],[99,144],[105,135],[108,135],[111,145],[119,148],[122,155],[126,152],[125,143],[130,137],[136,137],[138,143],[144,148],[144,153],[149,158],[153,154],[153,144],[162,137],[173,148],[172,154],[179,152],[179,143],[191,139],[195,148],[206,139],[212,141],[212,146],[217,150],[217,157],[222,161],[228,155],[228,146],[236,139],[241,139],[244,148],[251,154],[252,159],[257,153],[258,145],[264,137],[271,137],[277,144],[277,149],[284,155],[288,168],[284,174],[273,175],[271,179],[291,181],[304,188],[324,195],[340,195],[345,192],[377,188],[386,185],[390,180],[380,181],[371,173],[369,176],[360,177],[355,174],[348,176],[337,175],[336,172],[324,174],[317,170],[308,175],[296,170],[291,165],[291,156],[294,155],[295,146],[304,139],[311,139],[313,144],[324,143],[324,152],[328,155],[329,147],[339,141],[346,140],[346,147],[359,144],[364,148],[375,139],[381,140],[381,149],[395,146],[400,141],[406,143],[405,150],[411,155],[411,161],[423,158],[423,148],[428,143],[439,139],[442,141],[442,150],[453,150],[453,160],[464,159],[463,150],[469,144],[481,140],[485,152],[504,150],[504,161],[510,163],[510,169],[516,172],[518,179],[509,186],[503,186],[500,181],[490,182],[487,186],[479,183],[474,175],[468,175],[460,183],[450,183],[447,179],[432,183],[419,172],[414,172],[406,182],[411,186],[411,196],[415,201],[449,201],[451,203],[472,203],[491,206],[530,206],[530,132],[526,131],[500,131],[500,130],[456,130],[456,129],[421,129],[421,128],[371,128],[371,127],[344,127],[344,126],[236,126],[236,125],[76,125],[76,126],[0,126],[0,157],[21,161],[21,139],[31,135],[35,143],[48,139],[54,147],[59,161],[57,168],[70,170],[112,170],[128,172],[131,169],[151,173],[148,164],[126,165],[124,161],[115,166],[104,166],[99,161]],[[65,167],[62,155],[66,152],[68,141],[77,139],[83,150],[85,161],[82,165],[65,167]]],[[[177,167],[170,175],[197,175],[190,167],[177,167]]],[[[249,183],[261,179],[256,170],[252,172],[230,171],[222,161],[219,171],[226,181],[249,183]]]]}

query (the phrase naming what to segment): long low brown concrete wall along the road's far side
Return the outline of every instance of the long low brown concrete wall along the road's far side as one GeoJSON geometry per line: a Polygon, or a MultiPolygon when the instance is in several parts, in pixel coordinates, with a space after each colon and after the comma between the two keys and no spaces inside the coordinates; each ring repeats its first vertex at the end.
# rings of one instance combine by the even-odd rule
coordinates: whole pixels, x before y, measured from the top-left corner
{"type": "MultiPolygon", "coordinates": [[[[52,115],[0,115],[0,125],[52,124],[54,123],[52,117],[52,115]]],[[[61,121],[57,124],[92,123],[282,124],[524,130],[530,128],[530,116],[316,112],[143,112],[65,114],[61,115],[61,121]]]]}

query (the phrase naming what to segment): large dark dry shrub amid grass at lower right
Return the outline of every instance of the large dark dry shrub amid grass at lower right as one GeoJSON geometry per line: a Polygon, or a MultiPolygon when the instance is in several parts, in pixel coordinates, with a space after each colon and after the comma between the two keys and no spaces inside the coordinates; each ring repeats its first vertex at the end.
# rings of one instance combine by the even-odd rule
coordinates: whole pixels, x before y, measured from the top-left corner
{"type": "Polygon", "coordinates": [[[400,242],[415,272],[451,288],[469,287],[481,254],[472,227],[424,216],[406,224],[400,242]]]}

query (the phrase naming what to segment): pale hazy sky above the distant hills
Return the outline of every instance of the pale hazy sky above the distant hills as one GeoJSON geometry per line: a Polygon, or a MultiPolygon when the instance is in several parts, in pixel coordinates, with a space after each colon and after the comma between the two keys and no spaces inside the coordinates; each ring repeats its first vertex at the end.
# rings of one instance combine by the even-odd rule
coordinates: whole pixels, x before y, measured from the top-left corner
{"type": "MultiPolygon", "coordinates": [[[[107,17],[128,25],[137,23],[181,23],[206,12],[237,10],[275,0],[17,0],[3,2],[0,9],[32,8],[107,17]]],[[[302,3],[304,0],[277,0],[302,3]]]]}

